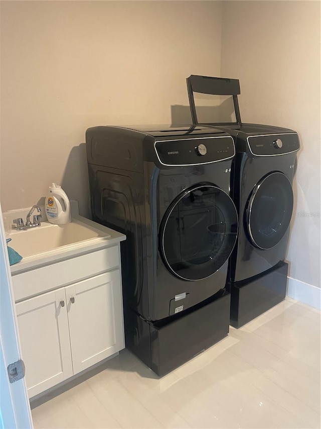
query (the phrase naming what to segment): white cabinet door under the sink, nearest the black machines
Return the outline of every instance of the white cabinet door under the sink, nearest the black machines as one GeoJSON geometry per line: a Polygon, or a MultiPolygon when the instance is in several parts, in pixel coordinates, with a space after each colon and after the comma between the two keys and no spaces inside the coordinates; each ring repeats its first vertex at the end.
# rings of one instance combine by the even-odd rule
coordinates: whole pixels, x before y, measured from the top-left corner
{"type": "Polygon", "coordinates": [[[74,373],[124,348],[120,271],[66,288],[74,373]]]}

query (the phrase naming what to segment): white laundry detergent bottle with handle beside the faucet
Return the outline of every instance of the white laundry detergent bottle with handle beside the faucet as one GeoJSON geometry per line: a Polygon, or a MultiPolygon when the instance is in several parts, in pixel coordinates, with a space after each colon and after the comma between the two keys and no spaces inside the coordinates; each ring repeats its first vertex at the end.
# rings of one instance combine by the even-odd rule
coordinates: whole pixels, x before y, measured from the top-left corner
{"type": "Polygon", "coordinates": [[[70,201],[61,186],[52,183],[46,198],[46,215],[48,221],[56,225],[71,222],[70,201]]]}

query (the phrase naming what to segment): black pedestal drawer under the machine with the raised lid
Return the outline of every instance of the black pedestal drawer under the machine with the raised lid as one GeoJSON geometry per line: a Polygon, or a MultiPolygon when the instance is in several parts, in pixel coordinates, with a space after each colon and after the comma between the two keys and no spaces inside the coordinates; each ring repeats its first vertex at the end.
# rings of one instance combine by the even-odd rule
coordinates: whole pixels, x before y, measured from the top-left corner
{"type": "Polygon", "coordinates": [[[279,263],[262,275],[250,280],[230,283],[231,321],[235,328],[274,307],[285,298],[288,264],[279,263]]]}

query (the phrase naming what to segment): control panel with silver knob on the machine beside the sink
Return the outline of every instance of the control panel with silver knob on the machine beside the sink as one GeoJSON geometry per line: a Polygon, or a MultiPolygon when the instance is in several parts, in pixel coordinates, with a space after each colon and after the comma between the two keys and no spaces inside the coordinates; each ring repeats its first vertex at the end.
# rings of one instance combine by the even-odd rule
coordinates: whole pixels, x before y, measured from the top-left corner
{"type": "Polygon", "coordinates": [[[230,159],[235,154],[230,136],[155,140],[154,148],[163,165],[199,165],[230,159]]]}

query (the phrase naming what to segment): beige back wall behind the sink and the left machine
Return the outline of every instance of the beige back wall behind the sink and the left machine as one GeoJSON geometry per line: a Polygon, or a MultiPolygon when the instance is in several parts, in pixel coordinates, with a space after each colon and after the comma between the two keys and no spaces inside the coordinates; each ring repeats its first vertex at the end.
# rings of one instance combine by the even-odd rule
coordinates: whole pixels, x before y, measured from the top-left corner
{"type": "Polygon", "coordinates": [[[171,123],[186,77],[219,74],[221,2],[6,1],[1,8],[1,202],[61,184],[88,213],[86,128],[171,123]]]}

